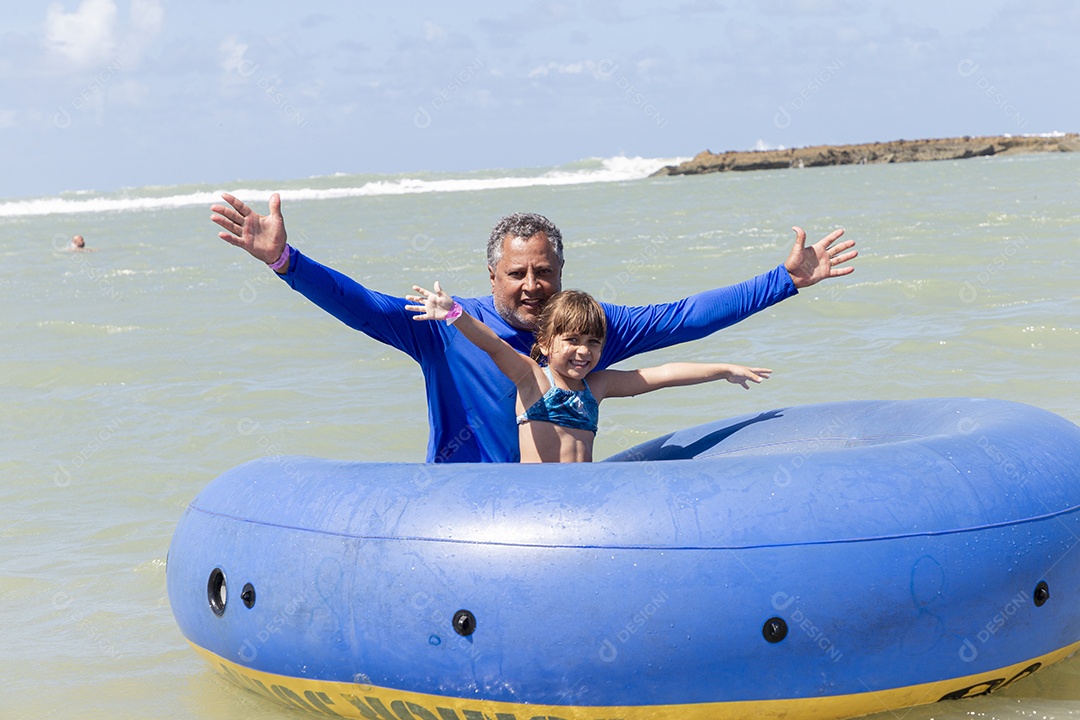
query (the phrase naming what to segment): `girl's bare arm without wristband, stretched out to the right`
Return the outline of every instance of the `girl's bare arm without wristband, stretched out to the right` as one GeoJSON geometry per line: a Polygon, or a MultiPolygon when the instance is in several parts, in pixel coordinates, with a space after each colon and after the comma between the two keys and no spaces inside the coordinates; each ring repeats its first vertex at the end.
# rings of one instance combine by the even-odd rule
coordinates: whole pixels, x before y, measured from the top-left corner
{"type": "Polygon", "coordinates": [[[765,367],[745,367],[728,363],[667,363],[639,370],[597,370],[589,376],[589,386],[596,399],[631,397],[651,393],[661,388],[697,385],[703,382],[727,380],[750,389],[751,382],[759,383],[772,375],[765,367]]]}

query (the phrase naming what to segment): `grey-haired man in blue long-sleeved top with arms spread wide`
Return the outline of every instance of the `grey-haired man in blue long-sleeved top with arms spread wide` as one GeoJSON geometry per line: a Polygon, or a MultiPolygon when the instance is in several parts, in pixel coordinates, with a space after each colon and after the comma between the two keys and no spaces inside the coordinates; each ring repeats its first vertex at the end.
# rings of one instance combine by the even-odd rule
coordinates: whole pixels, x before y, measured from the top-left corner
{"type": "MultiPolygon", "coordinates": [[[[306,298],[346,325],[397,348],[420,364],[428,393],[428,462],[517,462],[514,384],[488,357],[444,323],[417,323],[404,297],[369,290],[346,275],[301,255],[286,243],[281,198],[270,196],[269,215],[258,215],[225,193],[213,205],[218,236],[266,262],[306,298]]],[[[858,256],[853,241],[836,241],[836,230],[807,247],[806,233],[787,260],[774,270],[730,287],[706,290],[676,302],[630,308],[602,303],[608,336],[596,369],[638,353],[698,340],[732,325],[828,277],[858,256]]],[[[496,225],[488,241],[491,295],[455,298],[473,317],[522,353],[543,303],[562,289],[563,239],[546,218],[511,215],[496,225]]]]}

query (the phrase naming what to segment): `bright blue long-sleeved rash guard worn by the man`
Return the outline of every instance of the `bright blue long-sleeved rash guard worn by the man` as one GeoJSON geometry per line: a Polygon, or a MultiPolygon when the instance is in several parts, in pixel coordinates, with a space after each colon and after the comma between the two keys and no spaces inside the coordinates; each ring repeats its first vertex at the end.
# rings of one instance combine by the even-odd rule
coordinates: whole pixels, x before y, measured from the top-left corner
{"type": "MultiPolygon", "coordinates": [[[[418,323],[405,298],[367,289],[293,249],[286,283],[349,327],[420,364],[428,393],[428,462],[518,462],[516,390],[486,352],[445,323],[418,323]]],[[[607,339],[595,369],[639,353],[699,340],[798,290],[781,264],[738,285],[683,300],[631,308],[600,302],[607,339]]],[[[515,350],[528,354],[532,332],[509,325],[489,295],[455,300],[515,350]]]]}

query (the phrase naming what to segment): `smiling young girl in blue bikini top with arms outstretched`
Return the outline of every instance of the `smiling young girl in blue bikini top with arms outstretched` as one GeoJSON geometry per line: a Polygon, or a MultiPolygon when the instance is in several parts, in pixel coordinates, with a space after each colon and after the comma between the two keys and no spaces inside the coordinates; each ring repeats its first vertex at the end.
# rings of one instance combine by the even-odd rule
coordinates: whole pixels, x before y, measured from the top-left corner
{"type": "Polygon", "coordinates": [[[669,363],[640,370],[593,370],[604,350],[604,310],[586,293],[553,295],[538,321],[532,356],[510,347],[454,301],[435,283],[434,291],[413,286],[405,305],[414,320],[457,324],[465,338],[485,351],[517,386],[517,437],[522,462],[592,462],[598,405],[606,397],[630,397],[661,388],[714,380],[748,389],[772,370],[728,364],[669,363]],[[541,366],[539,361],[545,359],[541,366]],[[589,380],[585,381],[588,376],[589,380]]]}

